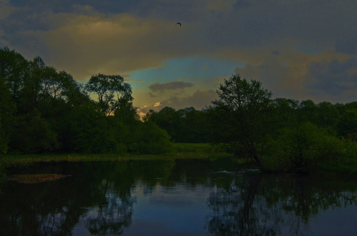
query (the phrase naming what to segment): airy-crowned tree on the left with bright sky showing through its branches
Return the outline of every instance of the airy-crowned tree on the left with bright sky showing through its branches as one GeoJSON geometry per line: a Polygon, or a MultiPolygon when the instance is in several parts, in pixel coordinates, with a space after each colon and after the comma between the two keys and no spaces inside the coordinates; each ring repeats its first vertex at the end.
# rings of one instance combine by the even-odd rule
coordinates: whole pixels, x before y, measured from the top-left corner
{"type": "Polygon", "coordinates": [[[133,100],[130,84],[124,83],[124,78],[120,75],[93,75],[86,84],[86,89],[97,94],[101,110],[107,117],[116,108],[133,100]]]}

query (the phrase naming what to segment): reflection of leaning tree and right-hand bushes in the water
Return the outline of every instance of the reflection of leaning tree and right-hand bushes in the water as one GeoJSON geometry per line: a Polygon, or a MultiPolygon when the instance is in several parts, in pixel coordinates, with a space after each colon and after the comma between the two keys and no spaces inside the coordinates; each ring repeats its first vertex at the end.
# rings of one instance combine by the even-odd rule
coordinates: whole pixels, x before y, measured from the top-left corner
{"type": "Polygon", "coordinates": [[[311,235],[311,216],[357,204],[355,186],[346,188],[301,176],[238,175],[210,193],[205,227],[213,235],[311,235]]]}

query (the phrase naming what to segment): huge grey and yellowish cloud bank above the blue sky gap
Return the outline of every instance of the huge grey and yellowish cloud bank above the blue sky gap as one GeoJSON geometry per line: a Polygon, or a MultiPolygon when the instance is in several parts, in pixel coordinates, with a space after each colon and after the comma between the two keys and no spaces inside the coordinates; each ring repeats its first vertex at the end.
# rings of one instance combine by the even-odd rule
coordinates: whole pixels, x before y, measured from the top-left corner
{"type": "Polygon", "coordinates": [[[324,52],[336,47],[336,52],[352,55],[357,50],[351,33],[356,29],[353,0],[278,0],[264,7],[248,0],[16,4],[24,6],[9,16],[3,29],[6,41],[21,48],[24,56],[40,53],[47,64],[75,79],[159,67],[192,55],[257,66],[265,60],[265,51],[282,53],[301,43],[324,52]],[[174,27],[177,19],[182,27],[174,27]]]}

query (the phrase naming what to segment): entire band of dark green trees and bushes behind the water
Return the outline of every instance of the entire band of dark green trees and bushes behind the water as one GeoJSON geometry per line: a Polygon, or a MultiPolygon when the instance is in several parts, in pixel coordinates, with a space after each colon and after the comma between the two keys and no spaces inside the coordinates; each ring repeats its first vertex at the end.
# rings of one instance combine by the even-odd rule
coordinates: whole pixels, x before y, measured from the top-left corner
{"type": "Polygon", "coordinates": [[[131,93],[119,75],[81,84],[0,48],[0,153],[156,155],[173,142],[211,143],[267,172],[357,174],[357,102],[273,99],[261,82],[232,75],[201,110],[140,118],[131,93]]]}

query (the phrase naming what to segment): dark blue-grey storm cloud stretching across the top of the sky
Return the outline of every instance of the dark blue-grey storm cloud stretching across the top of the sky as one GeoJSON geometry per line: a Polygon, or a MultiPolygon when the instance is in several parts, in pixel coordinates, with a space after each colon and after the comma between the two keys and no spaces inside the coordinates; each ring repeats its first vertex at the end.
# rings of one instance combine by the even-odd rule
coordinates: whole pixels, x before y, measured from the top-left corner
{"type": "MultiPolygon", "coordinates": [[[[292,44],[298,41],[313,46],[333,46],[347,52],[343,43],[349,31],[356,30],[355,0],[225,0],[225,1],[95,1],[95,0],[16,0],[17,8],[5,22],[5,32],[49,30],[46,18],[57,13],[86,14],[85,6],[100,14],[130,12],[140,17],[195,22],[191,35],[206,47],[292,44]],[[214,4],[213,4],[214,3],[214,4]],[[79,6],[83,6],[82,8],[79,6]],[[81,10],[82,9],[82,10],[81,10]],[[213,12],[213,13],[212,13],[213,12]],[[343,15],[343,17],[341,17],[343,15]],[[207,37],[209,36],[209,37],[207,37]],[[213,43],[213,45],[212,45],[213,43]],[[330,45],[332,44],[332,45],[330,45]]],[[[88,12],[87,12],[88,13],[88,12]]],[[[4,22],[3,22],[4,23],[4,22]]],[[[186,26],[185,26],[186,27],[186,26]]],[[[20,39],[18,39],[20,40],[20,39]]],[[[356,40],[355,40],[356,41],[356,40]]],[[[353,44],[353,37],[349,40],[353,44]]],[[[355,47],[352,50],[355,50],[355,47]]]]}

